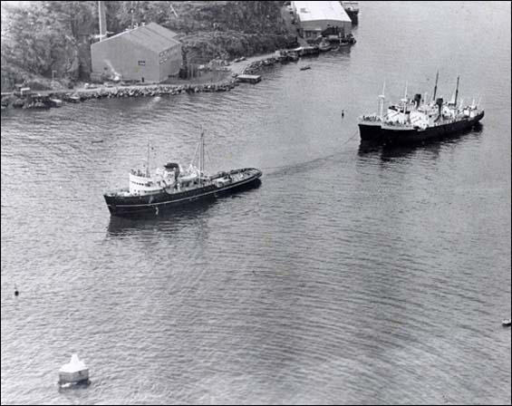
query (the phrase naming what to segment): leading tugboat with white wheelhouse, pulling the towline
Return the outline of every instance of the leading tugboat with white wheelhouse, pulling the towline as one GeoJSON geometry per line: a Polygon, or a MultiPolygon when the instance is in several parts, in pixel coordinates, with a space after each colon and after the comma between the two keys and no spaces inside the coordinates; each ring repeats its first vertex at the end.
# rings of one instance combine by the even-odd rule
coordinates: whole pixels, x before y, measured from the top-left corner
{"type": "Polygon", "coordinates": [[[150,144],[144,170],[130,171],[130,186],[103,194],[112,216],[136,216],[144,213],[159,214],[160,210],[180,204],[217,198],[224,193],[259,186],[262,172],[244,168],[218,172],[209,176],[204,170],[204,133],[194,158],[183,169],[178,163],[168,163],[150,175],[150,144]],[[199,168],[194,165],[198,156],[199,168]]]}

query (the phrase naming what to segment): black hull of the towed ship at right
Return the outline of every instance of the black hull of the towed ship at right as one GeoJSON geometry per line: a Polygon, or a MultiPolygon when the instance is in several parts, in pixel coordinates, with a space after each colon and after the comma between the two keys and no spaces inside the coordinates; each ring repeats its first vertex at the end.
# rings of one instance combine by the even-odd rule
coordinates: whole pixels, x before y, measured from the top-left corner
{"type": "Polygon", "coordinates": [[[360,123],[359,129],[362,141],[372,141],[387,145],[405,145],[425,142],[428,140],[441,140],[449,136],[468,131],[484,117],[482,111],[472,119],[449,122],[435,127],[421,129],[382,128],[379,125],[360,123]]]}

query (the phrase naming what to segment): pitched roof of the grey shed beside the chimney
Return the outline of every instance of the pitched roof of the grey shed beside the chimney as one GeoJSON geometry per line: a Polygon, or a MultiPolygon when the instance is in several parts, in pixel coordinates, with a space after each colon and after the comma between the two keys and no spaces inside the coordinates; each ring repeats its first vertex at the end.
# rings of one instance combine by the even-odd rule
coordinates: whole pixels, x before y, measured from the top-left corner
{"type": "MultiPolygon", "coordinates": [[[[151,51],[160,53],[168,49],[170,46],[179,43],[179,41],[176,39],[177,35],[178,34],[173,33],[172,31],[160,26],[159,24],[150,23],[140,25],[139,27],[130,31],[124,31],[120,34],[116,34],[101,41],[100,43],[108,43],[109,41],[114,41],[122,37],[131,43],[137,43],[146,48],[149,48],[151,51]]],[[[92,46],[98,45],[100,43],[93,43],[92,46]]]]}

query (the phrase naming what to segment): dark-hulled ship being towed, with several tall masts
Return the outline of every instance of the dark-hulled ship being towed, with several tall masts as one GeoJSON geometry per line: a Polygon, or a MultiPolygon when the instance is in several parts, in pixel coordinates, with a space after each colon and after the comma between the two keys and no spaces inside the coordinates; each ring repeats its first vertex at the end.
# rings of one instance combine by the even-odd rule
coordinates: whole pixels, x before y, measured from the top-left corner
{"type": "Polygon", "coordinates": [[[380,113],[364,115],[359,119],[359,130],[362,141],[383,144],[406,144],[441,139],[451,134],[471,129],[484,117],[484,111],[473,101],[470,105],[457,104],[459,96],[459,78],[454,102],[436,99],[439,73],[432,102],[425,103],[421,94],[413,100],[407,98],[407,85],[401,103],[388,107],[382,114],[384,106],[384,90],[379,96],[380,113]],[[435,102],[434,102],[435,101],[435,102]]]}

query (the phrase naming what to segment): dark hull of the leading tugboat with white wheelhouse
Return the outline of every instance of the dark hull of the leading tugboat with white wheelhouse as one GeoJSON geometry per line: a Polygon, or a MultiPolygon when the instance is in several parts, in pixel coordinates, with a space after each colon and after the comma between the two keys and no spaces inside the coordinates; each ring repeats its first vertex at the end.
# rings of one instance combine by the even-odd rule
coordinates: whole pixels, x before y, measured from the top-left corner
{"type": "MultiPolygon", "coordinates": [[[[231,173],[235,172],[232,171],[231,173]]],[[[145,213],[159,214],[160,211],[169,210],[179,205],[208,201],[237,191],[255,188],[261,184],[259,179],[261,175],[261,172],[258,170],[254,175],[246,179],[229,183],[223,187],[211,184],[203,188],[172,194],[162,191],[153,195],[120,197],[107,193],[103,197],[112,216],[133,217],[145,213]]]]}

